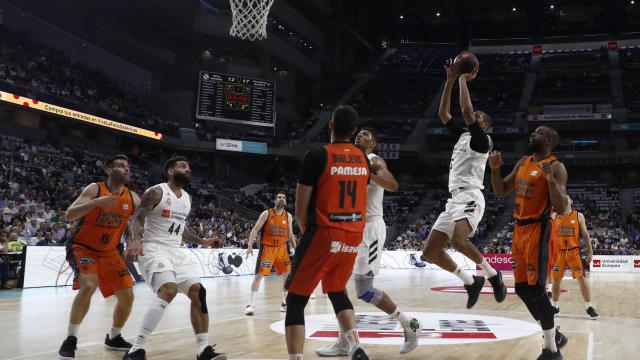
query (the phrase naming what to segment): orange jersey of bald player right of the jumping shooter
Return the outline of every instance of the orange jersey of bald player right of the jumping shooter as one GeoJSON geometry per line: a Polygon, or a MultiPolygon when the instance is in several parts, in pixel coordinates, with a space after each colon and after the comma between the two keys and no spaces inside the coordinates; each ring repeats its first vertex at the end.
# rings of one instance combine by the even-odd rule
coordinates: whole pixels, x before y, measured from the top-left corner
{"type": "Polygon", "coordinates": [[[550,166],[556,160],[550,155],[536,162],[533,156],[529,156],[520,164],[515,176],[516,208],[513,217],[516,220],[536,220],[550,212],[549,184],[542,167],[550,166]]]}

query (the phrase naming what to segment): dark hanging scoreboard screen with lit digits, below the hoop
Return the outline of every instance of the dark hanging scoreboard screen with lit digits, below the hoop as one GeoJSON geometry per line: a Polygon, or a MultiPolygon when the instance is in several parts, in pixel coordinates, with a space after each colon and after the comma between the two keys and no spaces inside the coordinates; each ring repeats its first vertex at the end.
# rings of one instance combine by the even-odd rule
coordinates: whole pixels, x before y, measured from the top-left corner
{"type": "Polygon", "coordinates": [[[274,81],[201,71],[196,118],[275,126],[274,81]]]}

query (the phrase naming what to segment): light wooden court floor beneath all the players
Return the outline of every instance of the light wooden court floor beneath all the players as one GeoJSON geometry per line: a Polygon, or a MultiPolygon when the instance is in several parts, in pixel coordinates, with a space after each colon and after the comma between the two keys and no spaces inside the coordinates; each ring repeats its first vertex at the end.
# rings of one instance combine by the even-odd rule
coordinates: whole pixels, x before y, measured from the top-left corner
{"type": "MultiPolygon", "coordinates": [[[[578,284],[565,279],[562,288],[568,292],[560,298],[561,314],[556,318],[556,324],[569,338],[563,349],[564,358],[640,359],[640,274],[589,274],[588,277],[593,304],[600,318],[587,319],[578,284]]],[[[272,324],[284,319],[284,314],[279,311],[282,280],[275,276],[265,279],[257,297],[256,315],[247,317],[244,308],[251,280],[250,276],[204,280],[211,315],[210,343],[218,344],[216,350],[227,353],[230,359],[287,359],[284,336],[271,329],[272,324]]],[[[513,285],[510,274],[505,274],[505,282],[513,285]]],[[[406,355],[398,353],[401,338],[372,340],[377,343],[364,345],[371,359],[535,359],[540,353],[542,333],[539,329],[529,331],[525,336],[509,338],[519,330],[535,325],[516,295],[507,296],[501,304],[494,301],[493,295],[482,295],[472,310],[466,310],[465,294],[431,290],[434,287],[459,286],[458,279],[444,271],[425,269],[382,270],[375,285],[388,292],[402,310],[416,316],[433,317],[431,320],[435,321],[435,326],[438,323],[447,326],[451,321],[465,318],[482,320],[496,338],[481,343],[440,339],[441,336],[443,339],[446,336],[473,338],[475,333],[473,329],[469,332],[469,322],[466,322],[467,327],[462,326],[463,335],[455,331],[447,332],[449,335],[446,336],[442,335],[445,332],[438,331],[427,334],[425,330],[424,344],[406,355]],[[514,324],[512,320],[528,324],[514,324]],[[496,326],[502,330],[494,331],[496,326]],[[396,343],[384,344],[385,341],[396,343]]],[[[353,294],[352,284],[349,288],[353,294]]],[[[153,296],[145,284],[136,286],[135,295],[131,317],[123,330],[123,336],[130,341],[135,337],[153,296]]],[[[74,292],[69,288],[0,292],[0,359],[56,359],[57,349],[66,336],[73,297],[74,292]]],[[[80,329],[77,359],[115,360],[122,357],[121,353],[104,350],[102,344],[110,327],[113,304],[113,299],[105,300],[98,293],[94,296],[80,329]]],[[[357,299],[354,305],[358,313],[376,311],[357,299]]],[[[326,314],[322,317],[323,326],[331,328],[332,308],[325,295],[310,300],[307,314],[318,315],[316,318],[326,314]]],[[[369,319],[367,326],[376,328],[375,320],[384,317],[369,314],[365,318],[369,319]]],[[[383,338],[388,335],[384,331],[376,334],[383,338]]],[[[316,359],[314,349],[327,344],[328,341],[307,339],[305,359],[316,359]]],[[[179,295],[149,341],[148,358],[193,359],[194,354],[195,340],[188,300],[179,295]]]]}

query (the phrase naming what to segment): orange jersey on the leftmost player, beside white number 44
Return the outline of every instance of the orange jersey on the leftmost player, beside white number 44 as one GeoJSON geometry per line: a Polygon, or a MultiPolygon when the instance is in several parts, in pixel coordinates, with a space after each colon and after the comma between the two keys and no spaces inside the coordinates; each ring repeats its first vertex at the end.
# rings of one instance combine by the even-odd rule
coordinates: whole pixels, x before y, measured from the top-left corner
{"type": "MultiPolygon", "coordinates": [[[[111,193],[104,182],[98,183],[98,196],[111,193]]],[[[118,247],[127,222],[133,215],[133,197],[126,186],[121,194],[113,195],[116,204],[107,208],[91,209],[78,224],[73,244],[98,251],[113,250],[118,247]]]]}

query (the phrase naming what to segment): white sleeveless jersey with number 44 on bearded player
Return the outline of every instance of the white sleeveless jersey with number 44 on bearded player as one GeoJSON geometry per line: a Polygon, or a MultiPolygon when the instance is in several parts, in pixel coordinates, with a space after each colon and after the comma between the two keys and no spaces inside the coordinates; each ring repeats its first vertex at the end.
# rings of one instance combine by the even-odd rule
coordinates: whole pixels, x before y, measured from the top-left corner
{"type": "Polygon", "coordinates": [[[162,200],[147,215],[143,241],[179,247],[187,216],[191,211],[191,199],[184,190],[178,198],[167,183],[156,186],[162,189],[162,200]]]}

